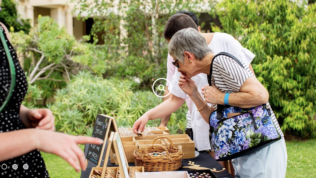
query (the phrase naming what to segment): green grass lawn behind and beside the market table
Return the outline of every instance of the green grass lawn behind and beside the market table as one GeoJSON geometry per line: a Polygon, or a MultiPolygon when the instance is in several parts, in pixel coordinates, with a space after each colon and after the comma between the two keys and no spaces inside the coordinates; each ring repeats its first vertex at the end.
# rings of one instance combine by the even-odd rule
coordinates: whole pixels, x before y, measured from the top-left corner
{"type": "MultiPolygon", "coordinates": [[[[83,150],[84,145],[80,145],[83,150]]],[[[286,178],[312,178],[316,173],[316,139],[286,141],[288,167],[286,178]]],[[[80,178],[66,161],[52,154],[41,152],[51,178],[80,178]]],[[[87,177],[88,178],[88,177],[87,177]]]]}

